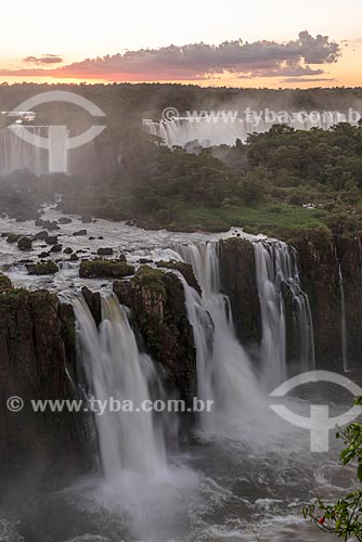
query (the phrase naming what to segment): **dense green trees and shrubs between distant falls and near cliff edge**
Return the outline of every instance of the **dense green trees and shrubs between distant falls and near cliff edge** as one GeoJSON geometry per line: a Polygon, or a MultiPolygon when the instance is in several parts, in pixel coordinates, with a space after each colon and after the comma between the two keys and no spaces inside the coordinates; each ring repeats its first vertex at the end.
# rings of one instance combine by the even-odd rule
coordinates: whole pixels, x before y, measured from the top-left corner
{"type": "Polygon", "coordinates": [[[102,184],[72,180],[63,206],[148,228],[287,235],[294,230],[362,231],[362,127],[294,131],[275,126],[246,144],[199,154],[140,134],[122,171],[102,184]]]}

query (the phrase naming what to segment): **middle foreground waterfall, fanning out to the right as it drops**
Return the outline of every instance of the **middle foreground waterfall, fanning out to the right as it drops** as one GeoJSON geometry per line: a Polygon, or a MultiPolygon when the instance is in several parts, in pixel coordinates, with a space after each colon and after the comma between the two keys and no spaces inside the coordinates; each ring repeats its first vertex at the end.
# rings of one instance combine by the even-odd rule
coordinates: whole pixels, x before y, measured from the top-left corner
{"type": "Polygon", "coordinates": [[[203,430],[216,431],[227,420],[259,412],[263,399],[236,338],[229,298],[220,293],[218,244],[179,245],[176,251],[193,267],[203,291],[199,296],[182,280],[196,346],[198,397],[215,401],[211,412],[202,413],[199,424],[203,430]]]}

